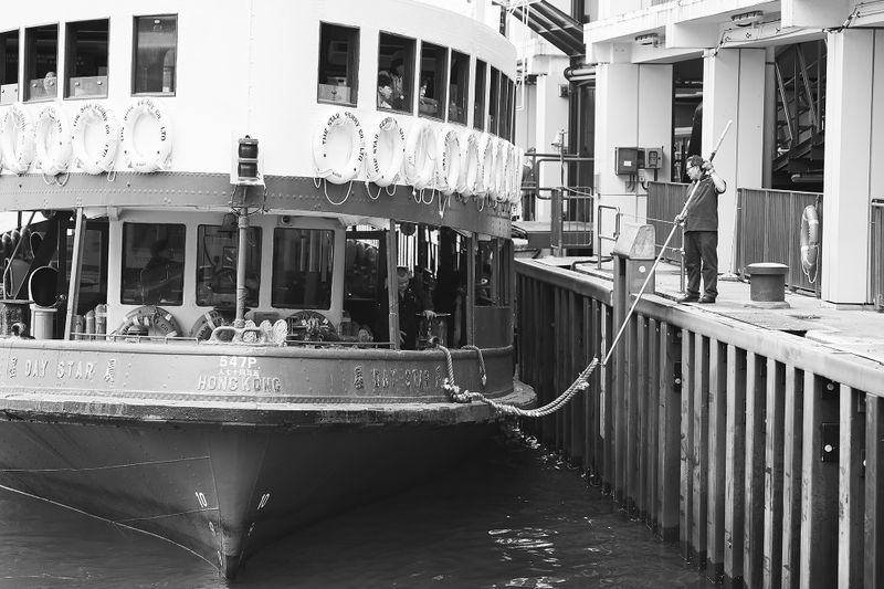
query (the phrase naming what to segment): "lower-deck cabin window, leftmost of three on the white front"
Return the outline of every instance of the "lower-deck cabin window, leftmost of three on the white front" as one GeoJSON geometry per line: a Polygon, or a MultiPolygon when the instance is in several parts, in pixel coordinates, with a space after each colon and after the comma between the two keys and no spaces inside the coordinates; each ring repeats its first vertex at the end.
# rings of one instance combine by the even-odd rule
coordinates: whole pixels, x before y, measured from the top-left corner
{"type": "Polygon", "coordinates": [[[123,224],[124,305],[180,305],[185,288],[185,225],[123,224]]]}

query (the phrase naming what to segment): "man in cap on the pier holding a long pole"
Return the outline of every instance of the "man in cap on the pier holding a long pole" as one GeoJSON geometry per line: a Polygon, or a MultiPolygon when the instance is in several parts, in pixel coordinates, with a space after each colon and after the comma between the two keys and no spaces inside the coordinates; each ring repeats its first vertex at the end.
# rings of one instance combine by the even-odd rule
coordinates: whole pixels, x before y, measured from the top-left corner
{"type": "Polygon", "coordinates": [[[675,222],[684,227],[684,263],[687,293],[680,303],[715,303],[718,297],[718,194],[727,183],[715,173],[712,161],[701,156],[687,158],[692,183],[688,202],[675,222]],[[699,278],[703,276],[703,295],[699,278]]]}

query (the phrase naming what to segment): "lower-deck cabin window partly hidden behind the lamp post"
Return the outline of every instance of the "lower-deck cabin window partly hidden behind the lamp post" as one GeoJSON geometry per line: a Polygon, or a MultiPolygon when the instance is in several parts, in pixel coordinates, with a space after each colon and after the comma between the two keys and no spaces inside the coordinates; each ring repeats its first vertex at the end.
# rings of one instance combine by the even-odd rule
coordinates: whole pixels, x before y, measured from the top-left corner
{"type": "MultiPolygon", "coordinates": [[[[197,304],[209,307],[236,306],[236,264],[240,234],[236,220],[221,225],[197,228],[197,304]]],[[[257,306],[261,284],[261,228],[245,233],[245,305],[257,306]]]]}

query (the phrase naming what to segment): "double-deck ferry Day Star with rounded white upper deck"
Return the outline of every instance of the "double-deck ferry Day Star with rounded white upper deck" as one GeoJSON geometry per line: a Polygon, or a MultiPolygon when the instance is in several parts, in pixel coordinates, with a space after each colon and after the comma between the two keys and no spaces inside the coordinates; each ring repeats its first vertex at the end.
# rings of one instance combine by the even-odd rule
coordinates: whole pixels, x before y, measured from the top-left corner
{"type": "Polygon", "coordinates": [[[232,578],[474,448],[501,416],[455,383],[534,404],[497,31],[406,0],[43,0],[4,8],[0,56],[3,488],[232,578]]]}

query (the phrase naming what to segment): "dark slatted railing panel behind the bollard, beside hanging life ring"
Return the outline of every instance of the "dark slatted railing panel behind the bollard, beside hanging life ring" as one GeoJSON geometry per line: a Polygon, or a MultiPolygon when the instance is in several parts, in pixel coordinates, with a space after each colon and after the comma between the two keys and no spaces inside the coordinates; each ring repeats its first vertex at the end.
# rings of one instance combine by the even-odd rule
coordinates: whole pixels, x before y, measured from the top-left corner
{"type": "Polygon", "coordinates": [[[822,194],[786,190],[737,189],[736,271],[743,273],[756,262],[779,262],[789,266],[786,286],[820,295],[820,264],[801,267],[801,213],[804,207],[822,210],[822,194]]]}

